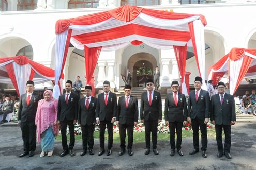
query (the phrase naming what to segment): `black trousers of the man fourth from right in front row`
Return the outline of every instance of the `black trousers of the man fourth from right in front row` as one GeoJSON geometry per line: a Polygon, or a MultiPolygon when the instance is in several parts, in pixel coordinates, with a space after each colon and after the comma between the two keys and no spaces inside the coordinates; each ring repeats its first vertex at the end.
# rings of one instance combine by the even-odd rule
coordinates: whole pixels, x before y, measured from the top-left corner
{"type": "Polygon", "coordinates": [[[157,148],[157,125],[158,120],[152,120],[151,116],[149,115],[148,120],[144,120],[145,125],[145,138],[146,138],[146,148],[150,149],[150,134],[152,133],[152,144],[153,149],[157,148]]]}

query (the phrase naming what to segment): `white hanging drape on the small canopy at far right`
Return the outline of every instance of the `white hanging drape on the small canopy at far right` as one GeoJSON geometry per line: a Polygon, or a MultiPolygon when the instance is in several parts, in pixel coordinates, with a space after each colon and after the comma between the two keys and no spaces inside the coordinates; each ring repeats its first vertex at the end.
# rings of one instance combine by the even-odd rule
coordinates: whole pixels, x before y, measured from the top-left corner
{"type": "Polygon", "coordinates": [[[243,59],[244,57],[241,57],[240,59],[236,60],[236,61],[232,61],[230,60],[230,67],[229,67],[229,84],[230,84],[230,94],[234,93],[236,84],[237,84],[237,80],[238,80],[238,76],[241,70],[241,66],[243,63],[243,59]]]}

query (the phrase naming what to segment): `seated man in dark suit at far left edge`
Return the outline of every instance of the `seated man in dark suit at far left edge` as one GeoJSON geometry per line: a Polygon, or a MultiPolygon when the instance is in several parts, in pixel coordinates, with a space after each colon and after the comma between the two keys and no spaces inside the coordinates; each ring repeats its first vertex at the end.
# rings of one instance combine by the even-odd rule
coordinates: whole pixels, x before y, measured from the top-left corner
{"type": "Polygon", "coordinates": [[[5,102],[3,103],[2,109],[0,110],[0,115],[3,114],[3,119],[0,124],[7,123],[6,117],[9,113],[13,112],[14,103],[10,101],[10,96],[8,94],[5,95],[5,102]]]}

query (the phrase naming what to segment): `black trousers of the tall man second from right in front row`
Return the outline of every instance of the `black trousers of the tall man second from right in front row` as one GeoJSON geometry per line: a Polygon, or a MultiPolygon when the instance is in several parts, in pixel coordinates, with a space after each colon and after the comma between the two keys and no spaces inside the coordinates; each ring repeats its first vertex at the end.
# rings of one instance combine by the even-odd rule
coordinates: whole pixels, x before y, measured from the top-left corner
{"type": "Polygon", "coordinates": [[[191,119],[191,125],[193,129],[193,144],[194,144],[194,149],[199,150],[199,127],[201,131],[201,143],[202,147],[201,150],[206,151],[207,150],[207,124],[204,123],[204,120],[200,120],[198,117],[195,119],[191,119]]]}

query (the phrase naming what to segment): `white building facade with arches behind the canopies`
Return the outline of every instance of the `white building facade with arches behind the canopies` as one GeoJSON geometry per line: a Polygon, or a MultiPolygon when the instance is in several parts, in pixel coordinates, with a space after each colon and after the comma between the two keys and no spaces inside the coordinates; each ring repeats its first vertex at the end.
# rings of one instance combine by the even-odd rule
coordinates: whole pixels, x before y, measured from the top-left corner
{"type": "MultiPolygon", "coordinates": [[[[0,0],[0,57],[27,55],[36,62],[54,69],[55,23],[59,19],[74,18],[86,14],[102,12],[132,4],[134,1],[100,0],[91,4],[76,4],[73,0],[37,0],[30,4],[23,1],[0,0]],[[27,5],[27,6],[26,6],[27,5]],[[78,8],[83,7],[83,8],[78,8]],[[92,8],[84,8],[92,7],[92,8]],[[31,10],[24,10],[29,9],[31,10]],[[76,8],[76,9],[70,9],[76,8]],[[22,9],[19,10],[19,9],[22,9]]],[[[87,1],[86,1],[87,2],[87,1]]],[[[136,1],[144,8],[177,13],[202,14],[207,20],[205,26],[205,70],[227,54],[231,48],[256,48],[256,1],[136,1]],[[144,3],[144,4],[143,4],[144,3]],[[154,4],[155,3],[155,4],[154,4]],[[190,3],[190,4],[189,4],[190,3]],[[153,5],[152,5],[153,4],[153,5]]],[[[192,48],[188,48],[186,71],[191,72],[190,83],[199,75],[192,48]]],[[[125,85],[122,76],[132,75],[132,85],[137,86],[137,70],[147,67],[161,72],[160,84],[170,87],[173,79],[179,79],[178,65],[173,50],[160,50],[146,44],[126,46],[113,52],[101,52],[95,75],[96,88],[102,87],[104,80],[111,87],[119,89],[125,85]]],[[[64,67],[65,80],[76,80],[79,75],[85,81],[84,52],[69,47],[64,67]]],[[[51,86],[43,84],[43,86],[51,86]]]]}

